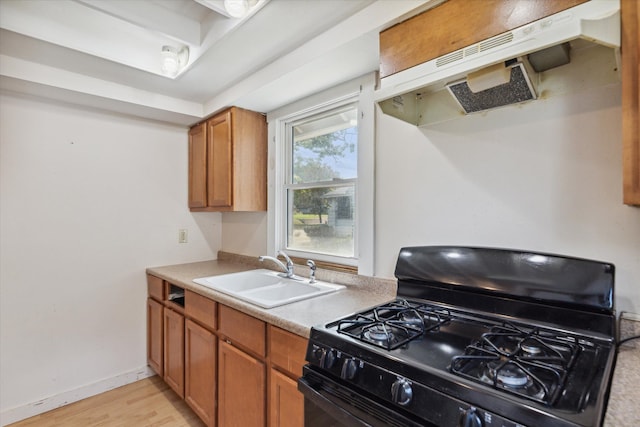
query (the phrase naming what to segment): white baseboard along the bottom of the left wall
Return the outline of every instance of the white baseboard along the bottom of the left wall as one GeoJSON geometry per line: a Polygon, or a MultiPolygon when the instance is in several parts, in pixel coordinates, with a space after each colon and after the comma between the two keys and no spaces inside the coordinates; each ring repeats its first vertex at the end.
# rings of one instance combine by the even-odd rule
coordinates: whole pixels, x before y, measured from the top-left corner
{"type": "Polygon", "coordinates": [[[42,400],[38,400],[37,402],[7,409],[0,413],[0,425],[4,427],[8,424],[42,414],[52,409],[86,399],[87,397],[95,396],[96,394],[104,393],[105,391],[109,391],[153,375],[155,375],[155,372],[153,372],[148,366],[144,366],[130,372],[116,375],[115,377],[79,387],[75,390],[65,391],[42,400]]]}

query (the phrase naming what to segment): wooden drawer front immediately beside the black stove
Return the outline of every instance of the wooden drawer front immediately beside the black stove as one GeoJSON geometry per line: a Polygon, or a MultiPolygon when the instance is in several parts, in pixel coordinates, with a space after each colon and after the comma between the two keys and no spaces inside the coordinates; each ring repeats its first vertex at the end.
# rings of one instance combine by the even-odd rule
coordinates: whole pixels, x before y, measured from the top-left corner
{"type": "Polygon", "coordinates": [[[269,355],[272,364],[294,377],[300,377],[306,351],[306,339],[269,325],[269,355]]]}

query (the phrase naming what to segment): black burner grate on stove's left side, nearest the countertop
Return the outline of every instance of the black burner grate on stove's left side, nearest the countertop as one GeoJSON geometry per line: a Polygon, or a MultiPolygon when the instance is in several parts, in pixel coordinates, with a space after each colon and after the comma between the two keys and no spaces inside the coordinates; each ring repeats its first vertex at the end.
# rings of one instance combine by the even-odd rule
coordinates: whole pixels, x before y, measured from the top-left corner
{"type": "Polygon", "coordinates": [[[338,322],[338,333],[386,350],[401,347],[451,320],[449,310],[395,300],[338,322]]]}

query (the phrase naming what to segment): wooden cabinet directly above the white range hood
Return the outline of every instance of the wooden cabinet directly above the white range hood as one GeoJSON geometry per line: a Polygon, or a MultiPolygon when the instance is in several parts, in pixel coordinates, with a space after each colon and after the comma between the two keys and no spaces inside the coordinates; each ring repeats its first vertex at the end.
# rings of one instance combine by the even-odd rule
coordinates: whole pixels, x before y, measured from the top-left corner
{"type": "Polygon", "coordinates": [[[587,0],[448,0],[380,33],[380,77],[529,24],[587,0]]]}

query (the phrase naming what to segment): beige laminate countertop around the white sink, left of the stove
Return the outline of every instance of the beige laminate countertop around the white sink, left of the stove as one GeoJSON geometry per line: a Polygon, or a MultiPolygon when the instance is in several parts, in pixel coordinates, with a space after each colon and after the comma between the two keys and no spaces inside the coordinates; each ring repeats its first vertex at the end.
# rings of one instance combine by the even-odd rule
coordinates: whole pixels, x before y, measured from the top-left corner
{"type": "MultiPolygon", "coordinates": [[[[209,297],[221,304],[235,308],[243,313],[305,338],[309,337],[312,326],[327,323],[331,320],[345,317],[348,314],[382,304],[392,300],[396,296],[395,281],[346,275],[343,273],[332,274],[318,270],[318,280],[341,283],[346,285],[346,289],[280,307],[264,309],[193,282],[193,279],[199,277],[236,273],[265,267],[266,266],[261,264],[251,265],[219,259],[216,261],[151,267],[147,269],[147,273],[160,277],[175,285],[183,286],[185,289],[209,297]],[[351,277],[352,282],[359,281],[364,283],[349,284],[345,283],[345,280],[335,280],[336,278],[345,277],[347,280],[351,277]]],[[[305,273],[306,271],[303,269],[301,269],[300,272],[296,270],[296,274],[304,275],[305,273]]]]}

